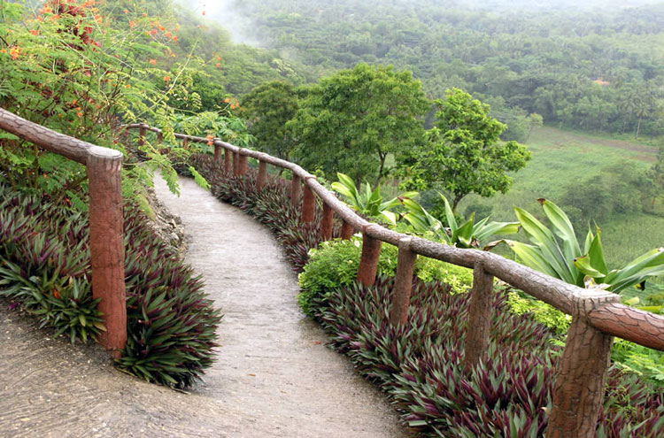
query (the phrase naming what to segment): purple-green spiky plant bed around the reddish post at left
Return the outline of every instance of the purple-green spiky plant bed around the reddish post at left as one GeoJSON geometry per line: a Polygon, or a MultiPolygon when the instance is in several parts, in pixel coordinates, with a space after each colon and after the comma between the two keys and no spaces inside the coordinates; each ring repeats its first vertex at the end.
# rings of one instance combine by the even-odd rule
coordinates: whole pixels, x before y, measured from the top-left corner
{"type": "MultiPolygon", "coordinates": [[[[87,214],[3,185],[0,195],[0,296],[56,336],[97,338],[105,328],[90,290],[87,214]]],[[[126,211],[128,338],[118,366],[145,380],[189,386],[212,363],[219,311],[137,207],[126,211]]]]}

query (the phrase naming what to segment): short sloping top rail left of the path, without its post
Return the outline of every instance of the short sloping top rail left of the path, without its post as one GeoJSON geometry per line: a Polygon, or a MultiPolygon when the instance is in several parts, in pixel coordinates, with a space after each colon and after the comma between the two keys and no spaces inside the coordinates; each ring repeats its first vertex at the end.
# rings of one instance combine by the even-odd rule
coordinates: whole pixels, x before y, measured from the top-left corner
{"type": "Polygon", "coordinates": [[[122,159],[122,152],[119,150],[104,148],[89,142],[83,142],[66,134],[60,134],[48,127],[42,127],[23,119],[3,108],[0,108],[0,129],[83,165],[87,164],[90,157],[112,161],[122,159]]]}

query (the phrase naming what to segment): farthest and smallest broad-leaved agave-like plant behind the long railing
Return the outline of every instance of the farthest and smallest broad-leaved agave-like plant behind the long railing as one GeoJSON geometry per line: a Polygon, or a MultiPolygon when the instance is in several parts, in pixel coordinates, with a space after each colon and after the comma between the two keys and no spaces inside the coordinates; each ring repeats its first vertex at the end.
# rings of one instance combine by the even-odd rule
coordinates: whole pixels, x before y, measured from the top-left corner
{"type": "Polygon", "coordinates": [[[360,191],[350,176],[344,173],[336,173],[336,176],[339,181],[333,182],[332,188],[344,195],[355,211],[372,218],[386,219],[392,225],[397,223],[397,215],[391,210],[401,205],[402,200],[418,195],[417,192],[405,192],[389,201],[383,201],[380,187],[372,191],[369,183],[365,182],[364,190],[360,191]]]}

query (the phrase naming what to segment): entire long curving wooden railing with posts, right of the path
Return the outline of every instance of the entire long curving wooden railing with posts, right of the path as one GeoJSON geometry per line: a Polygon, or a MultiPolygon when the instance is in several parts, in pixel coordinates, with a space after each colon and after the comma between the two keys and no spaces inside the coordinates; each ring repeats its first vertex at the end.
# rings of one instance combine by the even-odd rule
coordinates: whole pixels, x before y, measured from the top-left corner
{"type": "MultiPolygon", "coordinates": [[[[148,131],[157,133],[158,142],[162,141],[158,128],[145,124],[127,128],[140,129],[140,142],[144,142],[148,131]]],[[[175,137],[183,142],[210,142],[207,138],[192,135],[175,134],[175,137]]],[[[242,176],[248,172],[248,158],[259,160],[259,188],[266,183],[267,165],[289,169],[293,174],[290,199],[297,207],[302,197],[301,219],[304,222],[311,222],[315,217],[315,196],[322,201],[320,234],[323,239],[332,237],[335,214],[343,220],[342,237],[350,238],[356,230],[361,231],[363,246],[358,280],[364,285],[374,284],[382,243],[398,246],[398,268],[390,312],[392,324],[404,324],[406,321],[417,256],[474,269],[468,313],[470,323],[467,325],[465,344],[466,367],[476,365],[489,345],[494,277],[572,315],[572,325],[553,388],[547,438],[595,436],[613,336],[664,350],[664,317],[623,305],[620,296],[614,293],[599,288],[579,288],[490,252],[462,250],[397,233],[361,218],[299,165],[263,152],[238,148],[220,139],[213,139],[212,143],[214,158],[227,173],[242,176]],[[304,195],[301,196],[303,182],[304,195]]]]}

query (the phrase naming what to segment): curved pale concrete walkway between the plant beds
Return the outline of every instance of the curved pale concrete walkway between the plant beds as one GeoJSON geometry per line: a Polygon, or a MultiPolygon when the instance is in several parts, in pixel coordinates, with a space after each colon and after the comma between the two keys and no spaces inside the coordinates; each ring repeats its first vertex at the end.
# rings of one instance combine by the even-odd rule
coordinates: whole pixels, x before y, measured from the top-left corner
{"type": "Polygon", "coordinates": [[[49,340],[3,306],[0,436],[410,435],[299,311],[297,278],[265,227],[193,181],[181,181],[180,198],[156,186],[186,227],[188,262],[225,313],[218,361],[181,394],[118,372],[97,346],[49,340]]]}

